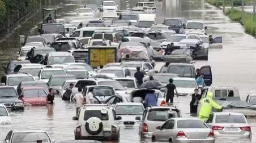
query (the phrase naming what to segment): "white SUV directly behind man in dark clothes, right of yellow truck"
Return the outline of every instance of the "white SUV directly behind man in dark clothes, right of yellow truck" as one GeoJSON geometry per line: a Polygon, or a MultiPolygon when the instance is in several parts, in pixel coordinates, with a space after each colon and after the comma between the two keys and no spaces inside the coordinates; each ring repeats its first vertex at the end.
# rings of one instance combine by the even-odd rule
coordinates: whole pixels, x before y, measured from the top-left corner
{"type": "Polygon", "coordinates": [[[123,61],[120,66],[126,66],[128,68],[136,68],[139,66],[140,69],[143,69],[148,76],[155,74],[153,66],[150,64],[150,62],[146,61],[123,61]]]}

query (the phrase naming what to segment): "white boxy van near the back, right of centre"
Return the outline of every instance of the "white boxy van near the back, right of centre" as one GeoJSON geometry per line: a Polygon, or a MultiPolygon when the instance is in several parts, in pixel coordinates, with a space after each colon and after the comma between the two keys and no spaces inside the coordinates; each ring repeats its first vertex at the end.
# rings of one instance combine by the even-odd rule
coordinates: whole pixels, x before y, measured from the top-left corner
{"type": "Polygon", "coordinates": [[[151,28],[156,25],[156,14],[139,14],[138,28],[151,28]]]}

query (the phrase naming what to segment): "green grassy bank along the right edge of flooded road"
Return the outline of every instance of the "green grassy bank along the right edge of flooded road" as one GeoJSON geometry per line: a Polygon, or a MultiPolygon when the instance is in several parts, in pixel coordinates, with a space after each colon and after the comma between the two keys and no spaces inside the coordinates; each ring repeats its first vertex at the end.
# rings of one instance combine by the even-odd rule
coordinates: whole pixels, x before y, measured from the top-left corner
{"type": "Polygon", "coordinates": [[[244,25],[245,32],[256,37],[256,22],[253,21],[253,14],[244,13],[242,20],[242,12],[240,10],[227,10],[225,13],[232,21],[236,21],[244,25]]]}

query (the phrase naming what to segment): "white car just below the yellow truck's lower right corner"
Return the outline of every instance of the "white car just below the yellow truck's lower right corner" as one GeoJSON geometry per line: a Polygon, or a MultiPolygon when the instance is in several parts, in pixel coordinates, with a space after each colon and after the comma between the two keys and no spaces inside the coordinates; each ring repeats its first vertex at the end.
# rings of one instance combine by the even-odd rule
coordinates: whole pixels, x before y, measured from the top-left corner
{"type": "Polygon", "coordinates": [[[100,74],[114,74],[118,78],[123,77],[131,77],[131,72],[126,67],[122,66],[113,66],[113,67],[106,67],[100,70],[100,74]]]}

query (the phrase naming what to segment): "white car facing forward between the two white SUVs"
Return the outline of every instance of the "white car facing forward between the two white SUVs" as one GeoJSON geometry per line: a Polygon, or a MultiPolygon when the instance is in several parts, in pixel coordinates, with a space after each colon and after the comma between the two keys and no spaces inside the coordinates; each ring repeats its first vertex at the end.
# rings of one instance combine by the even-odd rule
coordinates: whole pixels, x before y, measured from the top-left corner
{"type": "Polygon", "coordinates": [[[142,118],[144,106],[142,103],[135,102],[120,102],[114,107],[116,114],[122,119],[118,120],[118,126],[124,127],[139,127],[139,120],[136,117],[142,118]]]}

